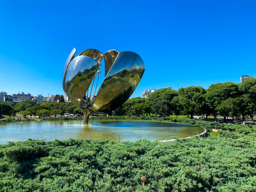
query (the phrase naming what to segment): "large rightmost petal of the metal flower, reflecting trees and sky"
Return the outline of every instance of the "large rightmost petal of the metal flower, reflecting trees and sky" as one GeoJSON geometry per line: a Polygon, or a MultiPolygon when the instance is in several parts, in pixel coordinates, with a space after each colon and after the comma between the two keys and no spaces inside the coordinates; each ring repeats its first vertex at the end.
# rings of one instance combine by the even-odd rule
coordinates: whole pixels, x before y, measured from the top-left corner
{"type": "Polygon", "coordinates": [[[134,52],[120,52],[105,77],[91,110],[108,112],[120,107],[133,94],[145,71],[143,60],[134,52]]]}

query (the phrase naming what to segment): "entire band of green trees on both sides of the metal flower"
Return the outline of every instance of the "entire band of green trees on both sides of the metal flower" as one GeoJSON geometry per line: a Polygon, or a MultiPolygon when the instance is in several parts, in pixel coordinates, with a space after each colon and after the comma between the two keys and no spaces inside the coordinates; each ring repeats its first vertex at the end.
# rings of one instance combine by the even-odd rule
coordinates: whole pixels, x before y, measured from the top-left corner
{"type": "MultiPolygon", "coordinates": [[[[208,89],[200,86],[180,88],[178,91],[164,88],[159,89],[147,98],[135,97],[128,99],[121,107],[109,112],[109,115],[149,115],[157,114],[161,116],[206,114],[217,118],[217,115],[240,119],[243,121],[246,116],[250,116],[252,121],[256,115],[256,79],[250,78],[242,83],[217,83],[212,84],[208,89]]],[[[82,114],[82,111],[71,102],[64,103],[64,98],[60,102],[40,102],[23,101],[17,104],[10,102],[0,102],[1,115],[15,115],[22,113],[27,115],[63,115],[64,113],[82,114]]]]}

